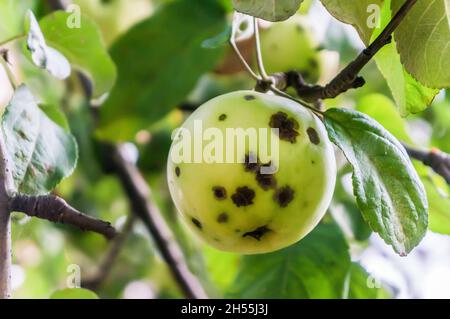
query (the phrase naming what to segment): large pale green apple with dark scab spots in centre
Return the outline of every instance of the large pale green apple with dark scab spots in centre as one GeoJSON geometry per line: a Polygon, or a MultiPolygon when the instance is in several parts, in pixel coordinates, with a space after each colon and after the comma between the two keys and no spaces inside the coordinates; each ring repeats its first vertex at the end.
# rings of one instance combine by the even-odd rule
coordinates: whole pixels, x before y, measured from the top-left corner
{"type": "MultiPolygon", "coordinates": [[[[224,136],[226,128],[281,128],[267,137],[278,139],[279,160],[278,171],[265,177],[242,163],[252,152],[264,154],[248,147],[236,150],[241,163],[174,162],[180,154],[177,143],[183,140],[175,135],[167,165],[170,194],[200,238],[223,251],[267,253],[296,243],[319,223],[334,192],[336,162],[317,116],[283,97],[238,91],[198,108],[183,124],[192,135],[196,120],[202,121],[203,132],[217,128],[224,136]]],[[[200,142],[200,149],[210,142],[204,141],[203,148],[200,142]]],[[[198,147],[199,141],[187,144],[198,147]]]]}

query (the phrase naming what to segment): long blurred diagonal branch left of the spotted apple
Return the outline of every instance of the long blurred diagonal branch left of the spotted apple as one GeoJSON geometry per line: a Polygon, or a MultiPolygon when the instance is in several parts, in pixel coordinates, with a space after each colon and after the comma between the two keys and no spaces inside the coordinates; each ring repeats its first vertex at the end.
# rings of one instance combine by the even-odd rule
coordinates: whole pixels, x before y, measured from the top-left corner
{"type": "Polygon", "coordinates": [[[162,258],[169,267],[176,282],[187,298],[207,298],[198,279],[190,272],[183,252],[173,237],[158,207],[151,200],[151,190],[136,166],[127,162],[117,146],[112,146],[109,154],[113,170],[122,182],[122,186],[133,209],[153,237],[162,258]]]}

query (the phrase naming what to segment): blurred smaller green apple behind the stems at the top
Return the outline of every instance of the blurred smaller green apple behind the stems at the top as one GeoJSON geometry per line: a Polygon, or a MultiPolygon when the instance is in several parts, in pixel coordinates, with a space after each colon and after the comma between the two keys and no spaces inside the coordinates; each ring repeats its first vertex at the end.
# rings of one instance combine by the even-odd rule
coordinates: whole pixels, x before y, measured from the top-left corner
{"type": "Polygon", "coordinates": [[[261,54],[269,74],[298,71],[309,83],[316,83],[322,72],[318,43],[308,20],[295,15],[261,31],[261,54]]]}

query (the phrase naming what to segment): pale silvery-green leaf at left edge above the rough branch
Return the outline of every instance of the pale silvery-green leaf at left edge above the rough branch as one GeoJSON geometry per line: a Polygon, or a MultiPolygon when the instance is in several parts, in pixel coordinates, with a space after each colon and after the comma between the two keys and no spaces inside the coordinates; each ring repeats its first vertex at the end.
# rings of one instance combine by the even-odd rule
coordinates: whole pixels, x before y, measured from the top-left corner
{"type": "Polygon", "coordinates": [[[46,194],[76,166],[75,139],[45,115],[24,85],[6,107],[2,133],[14,184],[21,193],[46,194]]]}

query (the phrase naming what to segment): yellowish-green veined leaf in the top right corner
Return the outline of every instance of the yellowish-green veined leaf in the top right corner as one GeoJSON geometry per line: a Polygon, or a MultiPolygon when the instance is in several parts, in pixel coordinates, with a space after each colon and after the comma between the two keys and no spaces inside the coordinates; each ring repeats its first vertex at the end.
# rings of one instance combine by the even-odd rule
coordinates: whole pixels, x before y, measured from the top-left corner
{"type": "MultiPolygon", "coordinates": [[[[405,0],[392,0],[397,12],[405,0]]],[[[418,0],[395,31],[397,49],[406,70],[431,88],[450,87],[450,4],[448,0],[418,0]]]]}

